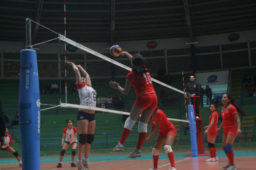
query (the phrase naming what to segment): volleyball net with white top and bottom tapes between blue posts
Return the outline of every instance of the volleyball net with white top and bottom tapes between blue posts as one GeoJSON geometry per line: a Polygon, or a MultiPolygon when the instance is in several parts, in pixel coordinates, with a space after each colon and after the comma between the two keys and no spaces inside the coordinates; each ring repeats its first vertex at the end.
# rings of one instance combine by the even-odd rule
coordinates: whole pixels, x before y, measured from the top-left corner
{"type": "MultiPolygon", "coordinates": [[[[36,25],[40,25],[33,20],[32,22],[34,22],[36,25]]],[[[44,29],[47,29],[48,31],[52,31],[43,25],[40,25],[40,26],[42,26],[44,29]]],[[[126,57],[111,57],[108,52],[109,51],[108,47],[105,48],[106,52],[99,53],[55,31],[52,31],[52,32],[54,33],[55,38],[53,37],[48,41],[34,44],[34,45],[27,44],[27,47],[34,48],[37,45],[48,43],[49,41],[54,41],[55,43],[59,43],[58,64],[52,62],[50,64],[50,68],[54,68],[54,64],[55,64],[55,67],[57,68],[57,70],[55,69],[55,72],[57,73],[53,73],[53,74],[58,74],[58,77],[60,78],[60,81],[56,82],[56,84],[59,85],[60,94],[61,94],[60,104],[56,106],[54,105],[52,106],[52,105],[41,103],[41,105],[47,106],[47,108],[41,109],[41,111],[46,109],[51,109],[54,107],[69,107],[69,108],[83,108],[88,110],[95,110],[98,112],[108,112],[108,113],[129,115],[128,111],[131,109],[136,97],[134,89],[131,88],[128,95],[123,95],[117,89],[110,88],[108,85],[108,82],[115,81],[115,82],[118,82],[121,87],[124,87],[126,82],[126,76],[128,72],[131,70],[130,60],[126,57]],[[67,47],[73,49],[74,51],[73,52],[67,51],[67,47]],[[79,94],[76,89],[75,73],[73,68],[67,65],[67,61],[73,62],[75,65],[81,65],[81,67],[85,69],[89,74],[92,82],[92,87],[97,92],[96,107],[86,106],[86,104],[80,105],[79,94]],[[111,101],[109,100],[109,95],[110,97],[112,97],[111,101]],[[124,108],[126,108],[127,111],[124,111],[124,108]]],[[[27,42],[29,42],[29,40],[27,42]]],[[[128,52],[132,55],[134,53],[138,53],[138,51],[128,51],[128,52]]],[[[38,56],[40,56],[40,54],[38,56]]],[[[145,57],[145,59],[147,60],[147,57],[145,57]]],[[[160,59],[157,59],[157,58],[151,59],[150,62],[147,63],[148,69],[151,69],[151,68],[155,69],[154,63],[156,63],[159,60],[160,59]]],[[[40,68],[41,64],[40,62],[38,63],[39,63],[38,67],[40,68]]],[[[42,63],[42,64],[44,65],[42,67],[45,67],[44,69],[49,69],[49,66],[47,68],[47,65],[45,63],[42,63]]],[[[151,72],[151,74],[156,75],[156,73],[154,72],[151,72]]],[[[81,73],[81,76],[82,76],[82,73],[81,73]]],[[[169,91],[175,91],[175,93],[184,95],[184,92],[182,90],[179,90],[178,88],[172,87],[164,82],[160,82],[155,78],[151,78],[151,79],[152,79],[156,94],[158,96],[158,100],[160,100],[159,94],[161,93],[160,91],[162,90],[162,88],[166,89],[167,94],[169,91]]],[[[182,76],[181,76],[181,85],[182,85],[182,76]]],[[[175,115],[176,113],[173,112],[172,107],[169,107],[168,96],[166,96],[164,100],[165,102],[161,103],[161,107],[163,107],[163,111],[167,114],[167,117],[171,117],[171,118],[168,118],[168,120],[189,122],[187,120],[187,114],[186,116],[182,117],[182,119],[174,119],[180,116],[175,115]]],[[[183,103],[182,103],[182,106],[183,106],[183,103]]],[[[179,108],[179,109],[182,109],[184,111],[185,106],[184,106],[184,109],[183,108],[179,108]]]]}

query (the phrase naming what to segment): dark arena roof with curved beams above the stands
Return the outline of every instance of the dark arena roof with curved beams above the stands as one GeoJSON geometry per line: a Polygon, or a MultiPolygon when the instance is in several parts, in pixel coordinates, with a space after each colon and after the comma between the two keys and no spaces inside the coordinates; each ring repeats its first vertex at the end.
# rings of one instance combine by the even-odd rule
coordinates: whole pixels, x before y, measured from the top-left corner
{"type": "MultiPolygon", "coordinates": [[[[1,0],[0,41],[26,41],[30,18],[64,35],[65,0],[1,0]]],[[[67,38],[115,42],[256,29],[256,0],[66,0],[67,38]]],[[[53,33],[33,26],[33,42],[53,33]]]]}

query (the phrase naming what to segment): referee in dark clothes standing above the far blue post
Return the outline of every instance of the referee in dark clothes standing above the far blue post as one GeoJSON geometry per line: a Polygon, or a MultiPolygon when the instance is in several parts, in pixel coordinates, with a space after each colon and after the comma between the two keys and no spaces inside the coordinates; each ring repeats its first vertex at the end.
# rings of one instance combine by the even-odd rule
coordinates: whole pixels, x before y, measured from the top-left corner
{"type": "Polygon", "coordinates": [[[186,84],[185,92],[191,96],[191,104],[194,105],[195,100],[195,119],[200,118],[200,112],[199,112],[199,99],[198,96],[200,94],[200,88],[199,85],[195,82],[195,77],[190,76],[189,78],[190,82],[186,84]]]}

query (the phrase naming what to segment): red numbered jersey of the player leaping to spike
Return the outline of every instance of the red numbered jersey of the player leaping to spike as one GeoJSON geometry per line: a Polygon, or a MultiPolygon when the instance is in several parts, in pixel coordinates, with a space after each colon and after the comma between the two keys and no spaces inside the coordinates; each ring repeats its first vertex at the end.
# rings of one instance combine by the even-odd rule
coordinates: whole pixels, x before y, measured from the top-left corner
{"type": "Polygon", "coordinates": [[[144,73],[141,79],[134,71],[130,71],[126,81],[132,83],[137,95],[155,93],[149,73],[144,73]]]}

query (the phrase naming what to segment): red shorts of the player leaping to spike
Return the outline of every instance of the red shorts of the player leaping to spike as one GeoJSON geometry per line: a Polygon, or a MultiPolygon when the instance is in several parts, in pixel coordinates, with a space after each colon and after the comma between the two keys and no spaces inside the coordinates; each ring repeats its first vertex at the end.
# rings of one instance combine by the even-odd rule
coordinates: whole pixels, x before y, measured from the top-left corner
{"type": "Polygon", "coordinates": [[[143,110],[146,110],[147,108],[150,110],[155,110],[157,107],[156,94],[150,93],[137,96],[134,106],[143,110]]]}

